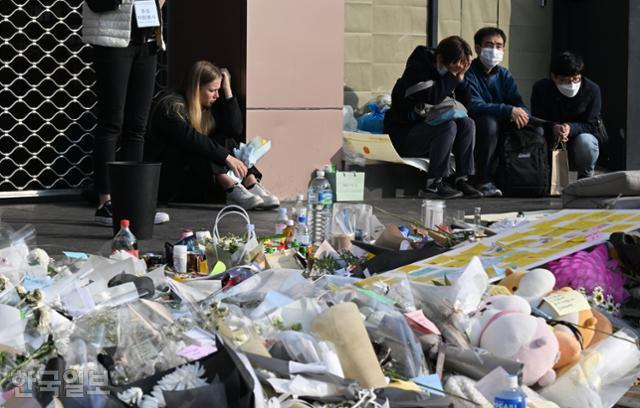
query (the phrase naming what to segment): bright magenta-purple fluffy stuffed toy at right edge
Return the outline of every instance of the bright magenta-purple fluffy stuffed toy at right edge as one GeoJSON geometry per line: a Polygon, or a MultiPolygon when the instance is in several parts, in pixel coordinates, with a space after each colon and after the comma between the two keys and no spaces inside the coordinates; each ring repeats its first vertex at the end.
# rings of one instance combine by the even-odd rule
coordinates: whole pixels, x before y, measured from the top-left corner
{"type": "Polygon", "coordinates": [[[606,300],[619,305],[629,297],[624,289],[625,279],[620,265],[615,259],[609,259],[609,251],[604,244],[591,252],[579,251],[549,262],[548,267],[556,276],[556,289],[582,288],[587,295],[592,295],[598,306],[604,306],[603,301],[606,300]],[[598,292],[608,299],[596,299],[594,295],[598,292]]]}

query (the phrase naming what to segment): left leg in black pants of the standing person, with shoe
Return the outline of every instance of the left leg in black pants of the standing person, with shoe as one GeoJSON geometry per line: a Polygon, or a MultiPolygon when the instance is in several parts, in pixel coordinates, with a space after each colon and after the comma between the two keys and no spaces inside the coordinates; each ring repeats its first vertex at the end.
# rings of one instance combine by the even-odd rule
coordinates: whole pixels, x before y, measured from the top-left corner
{"type": "Polygon", "coordinates": [[[93,47],[94,90],[97,96],[97,126],[94,132],[93,166],[100,205],[110,199],[107,162],[115,160],[116,142],[122,131],[129,72],[133,61],[131,47],[93,47]]]}

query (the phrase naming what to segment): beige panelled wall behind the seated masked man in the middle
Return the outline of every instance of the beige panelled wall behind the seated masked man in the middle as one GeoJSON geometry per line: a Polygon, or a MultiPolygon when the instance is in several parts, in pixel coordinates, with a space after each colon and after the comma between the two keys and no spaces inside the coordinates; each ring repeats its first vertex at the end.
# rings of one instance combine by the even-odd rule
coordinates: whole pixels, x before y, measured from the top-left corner
{"type": "Polygon", "coordinates": [[[513,73],[529,104],[535,81],[547,77],[551,58],[553,7],[535,0],[439,0],[438,38],[460,35],[473,45],[473,34],[492,25],[507,34],[503,65],[513,73]]]}

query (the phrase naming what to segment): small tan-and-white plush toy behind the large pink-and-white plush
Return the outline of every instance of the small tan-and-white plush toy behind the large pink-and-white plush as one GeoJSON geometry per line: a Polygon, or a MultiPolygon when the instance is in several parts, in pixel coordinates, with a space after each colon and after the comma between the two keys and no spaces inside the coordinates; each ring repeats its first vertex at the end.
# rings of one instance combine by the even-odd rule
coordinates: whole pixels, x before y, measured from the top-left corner
{"type": "Polygon", "coordinates": [[[499,284],[535,307],[540,303],[542,297],[553,290],[556,277],[550,271],[542,268],[531,271],[507,269],[506,277],[499,284]]]}

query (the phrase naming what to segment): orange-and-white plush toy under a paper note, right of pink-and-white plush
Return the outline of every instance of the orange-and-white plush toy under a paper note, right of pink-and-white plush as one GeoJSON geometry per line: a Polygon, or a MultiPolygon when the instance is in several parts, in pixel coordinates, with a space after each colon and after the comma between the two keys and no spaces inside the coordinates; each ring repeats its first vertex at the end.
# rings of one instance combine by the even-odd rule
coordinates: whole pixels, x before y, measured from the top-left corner
{"type": "MultiPolygon", "coordinates": [[[[552,292],[550,295],[553,295],[554,293],[561,294],[563,292],[572,296],[576,304],[578,304],[578,306],[576,307],[580,309],[579,311],[558,315],[555,309],[551,307],[551,305],[544,299],[540,304],[539,309],[554,320],[573,323],[574,325],[576,325],[576,328],[580,332],[580,337],[582,339],[582,349],[586,349],[593,341],[595,335],[594,329],[598,324],[598,319],[594,316],[593,310],[589,306],[589,302],[587,301],[586,297],[580,292],[575,291],[571,288],[562,288],[555,292],[552,292]]],[[[576,307],[574,307],[574,309],[576,307]]],[[[573,332],[566,326],[557,325],[556,329],[564,330],[567,333],[573,335],[573,332]]]]}

